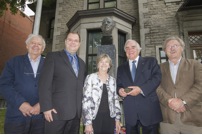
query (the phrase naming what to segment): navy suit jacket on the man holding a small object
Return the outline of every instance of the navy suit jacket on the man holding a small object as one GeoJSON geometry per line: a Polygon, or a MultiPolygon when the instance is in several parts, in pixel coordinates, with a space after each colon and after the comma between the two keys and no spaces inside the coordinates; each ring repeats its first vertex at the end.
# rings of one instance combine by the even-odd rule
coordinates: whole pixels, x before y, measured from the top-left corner
{"type": "Polygon", "coordinates": [[[162,121],[156,88],[161,81],[161,71],[157,60],[152,57],[139,57],[135,81],[132,81],[129,62],[118,67],[117,90],[128,86],[139,86],[143,93],[127,96],[123,100],[126,124],[136,125],[139,119],[144,126],[162,121]]]}

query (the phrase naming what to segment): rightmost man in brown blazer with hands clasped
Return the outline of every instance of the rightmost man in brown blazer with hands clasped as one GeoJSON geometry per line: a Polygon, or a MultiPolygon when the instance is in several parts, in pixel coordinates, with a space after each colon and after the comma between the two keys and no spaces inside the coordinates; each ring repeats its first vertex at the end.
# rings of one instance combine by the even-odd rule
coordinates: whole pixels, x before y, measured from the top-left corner
{"type": "Polygon", "coordinates": [[[161,64],[162,80],[157,89],[161,102],[163,134],[202,133],[202,65],[182,57],[185,44],[171,36],[163,44],[168,62],[161,64]]]}

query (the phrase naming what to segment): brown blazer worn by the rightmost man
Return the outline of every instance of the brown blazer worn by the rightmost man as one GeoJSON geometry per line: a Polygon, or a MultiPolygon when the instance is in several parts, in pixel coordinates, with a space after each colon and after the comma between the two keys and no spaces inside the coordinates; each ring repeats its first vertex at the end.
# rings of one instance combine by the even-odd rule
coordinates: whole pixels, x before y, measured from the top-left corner
{"type": "Polygon", "coordinates": [[[176,83],[171,78],[169,62],[161,64],[162,80],[157,89],[163,122],[174,123],[177,113],[168,107],[168,99],[186,101],[187,111],[181,114],[184,124],[202,126],[202,64],[182,58],[178,68],[176,83]]]}

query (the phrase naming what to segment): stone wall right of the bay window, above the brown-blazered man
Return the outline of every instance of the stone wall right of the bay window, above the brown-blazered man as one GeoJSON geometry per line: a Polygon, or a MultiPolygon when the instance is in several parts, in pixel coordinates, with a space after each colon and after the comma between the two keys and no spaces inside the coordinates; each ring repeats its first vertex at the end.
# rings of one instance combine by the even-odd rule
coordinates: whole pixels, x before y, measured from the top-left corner
{"type": "Polygon", "coordinates": [[[139,0],[140,40],[143,56],[156,56],[155,46],[168,35],[179,35],[176,13],[182,2],[139,0]]]}

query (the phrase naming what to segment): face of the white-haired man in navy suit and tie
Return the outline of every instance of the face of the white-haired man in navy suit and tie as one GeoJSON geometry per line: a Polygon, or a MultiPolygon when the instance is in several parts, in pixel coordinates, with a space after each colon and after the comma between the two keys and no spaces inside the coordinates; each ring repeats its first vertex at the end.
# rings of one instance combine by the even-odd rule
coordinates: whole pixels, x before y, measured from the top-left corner
{"type": "Polygon", "coordinates": [[[136,42],[129,41],[125,46],[126,56],[129,60],[135,60],[140,53],[136,42]]]}

